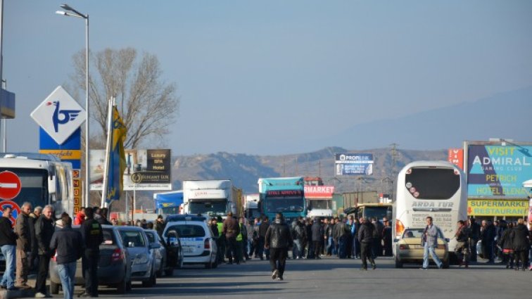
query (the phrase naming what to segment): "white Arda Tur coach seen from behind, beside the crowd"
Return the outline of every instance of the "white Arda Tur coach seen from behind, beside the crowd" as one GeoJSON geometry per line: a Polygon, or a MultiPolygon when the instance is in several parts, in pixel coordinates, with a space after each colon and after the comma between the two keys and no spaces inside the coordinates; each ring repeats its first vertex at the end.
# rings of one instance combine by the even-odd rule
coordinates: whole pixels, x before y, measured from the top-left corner
{"type": "MultiPolygon", "coordinates": [[[[395,229],[400,238],[407,228],[426,227],[426,217],[449,238],[449,254],[455,261],[456,224],[467,220],[467,184],[459,167],[445,161],[416,161],[398,174],[397,193],[393,205],[395,229]]],[[[393,246],[395,256],[395,246],[393,246]]]]}

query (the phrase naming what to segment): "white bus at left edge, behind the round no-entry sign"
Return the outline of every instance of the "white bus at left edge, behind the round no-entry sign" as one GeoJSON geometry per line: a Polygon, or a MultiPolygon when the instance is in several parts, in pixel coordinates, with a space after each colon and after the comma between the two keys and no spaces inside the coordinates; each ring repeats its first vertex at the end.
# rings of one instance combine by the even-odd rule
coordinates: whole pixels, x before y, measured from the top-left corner
{"type": "Polygon", "coordinates": [[[32,203],[32,208],[53,205],[56,217],[61,217],[63,212],[74,216],[72,164],[61,162],[53,155],[5,154],[0,158],[0,177],[7,178],[6,182],[0,182],[0,188],[15,191],[0,192],[4,196],[0,198],[0,210],[11,206],[12,221],[26,201],[32,203]]]}

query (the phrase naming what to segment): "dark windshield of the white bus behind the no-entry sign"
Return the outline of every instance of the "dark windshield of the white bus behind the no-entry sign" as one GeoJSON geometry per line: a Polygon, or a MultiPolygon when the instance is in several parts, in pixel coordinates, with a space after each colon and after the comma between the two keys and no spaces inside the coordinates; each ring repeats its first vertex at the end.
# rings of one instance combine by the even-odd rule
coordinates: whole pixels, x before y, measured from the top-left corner
{"type": "Polygon", "coordinates": [[[18,205],[25,202],[32,203],[32,207],[40,205],[44,207],[48,196],[48,172],[46,170],[24,169],[24,168],[0,168],[0,172],[10,171],[17,174],[20,179],[20,193],[12,201],[18,205]]]}

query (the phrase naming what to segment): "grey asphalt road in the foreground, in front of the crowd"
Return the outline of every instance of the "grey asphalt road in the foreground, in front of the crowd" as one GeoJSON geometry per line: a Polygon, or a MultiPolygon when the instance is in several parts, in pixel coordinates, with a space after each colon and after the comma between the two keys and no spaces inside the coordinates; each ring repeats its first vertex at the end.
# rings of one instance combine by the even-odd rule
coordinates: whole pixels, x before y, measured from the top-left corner
{"type": "Polygon", "coordinates": [[[289,260],[284,281],[272,280],[267,261],[251,260],[217,269],[187,266],[172,277],[158,279],[153,288],[134,283],[133,290],[123,296],[101,288],[100,297],[507,299],[531,298],[532,294],[532,272],[498,264],[422,270],[417,265],[395,269],[390,258],[376,262],[376,270],[360,271],[360,260],[289,260]]]}

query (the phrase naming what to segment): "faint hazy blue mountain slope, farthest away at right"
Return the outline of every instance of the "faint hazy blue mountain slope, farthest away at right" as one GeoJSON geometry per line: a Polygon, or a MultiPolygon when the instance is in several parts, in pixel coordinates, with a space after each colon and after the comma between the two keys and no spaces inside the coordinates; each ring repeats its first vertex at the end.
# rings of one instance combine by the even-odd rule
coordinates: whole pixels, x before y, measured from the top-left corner
{"type": "MultiPolygon", "coordinates": [[[[376,113],[393,115],[386,107],[376,113]]],[[[379,148],[395,142],[404,148],[435,150],[461,147],[464,140],[532,141],[531,113],[532,87],[528,87],[407,117],[355,125],[327,139],[310,141],[310,144],[314,148],[324,144],[379,148]]]]}

